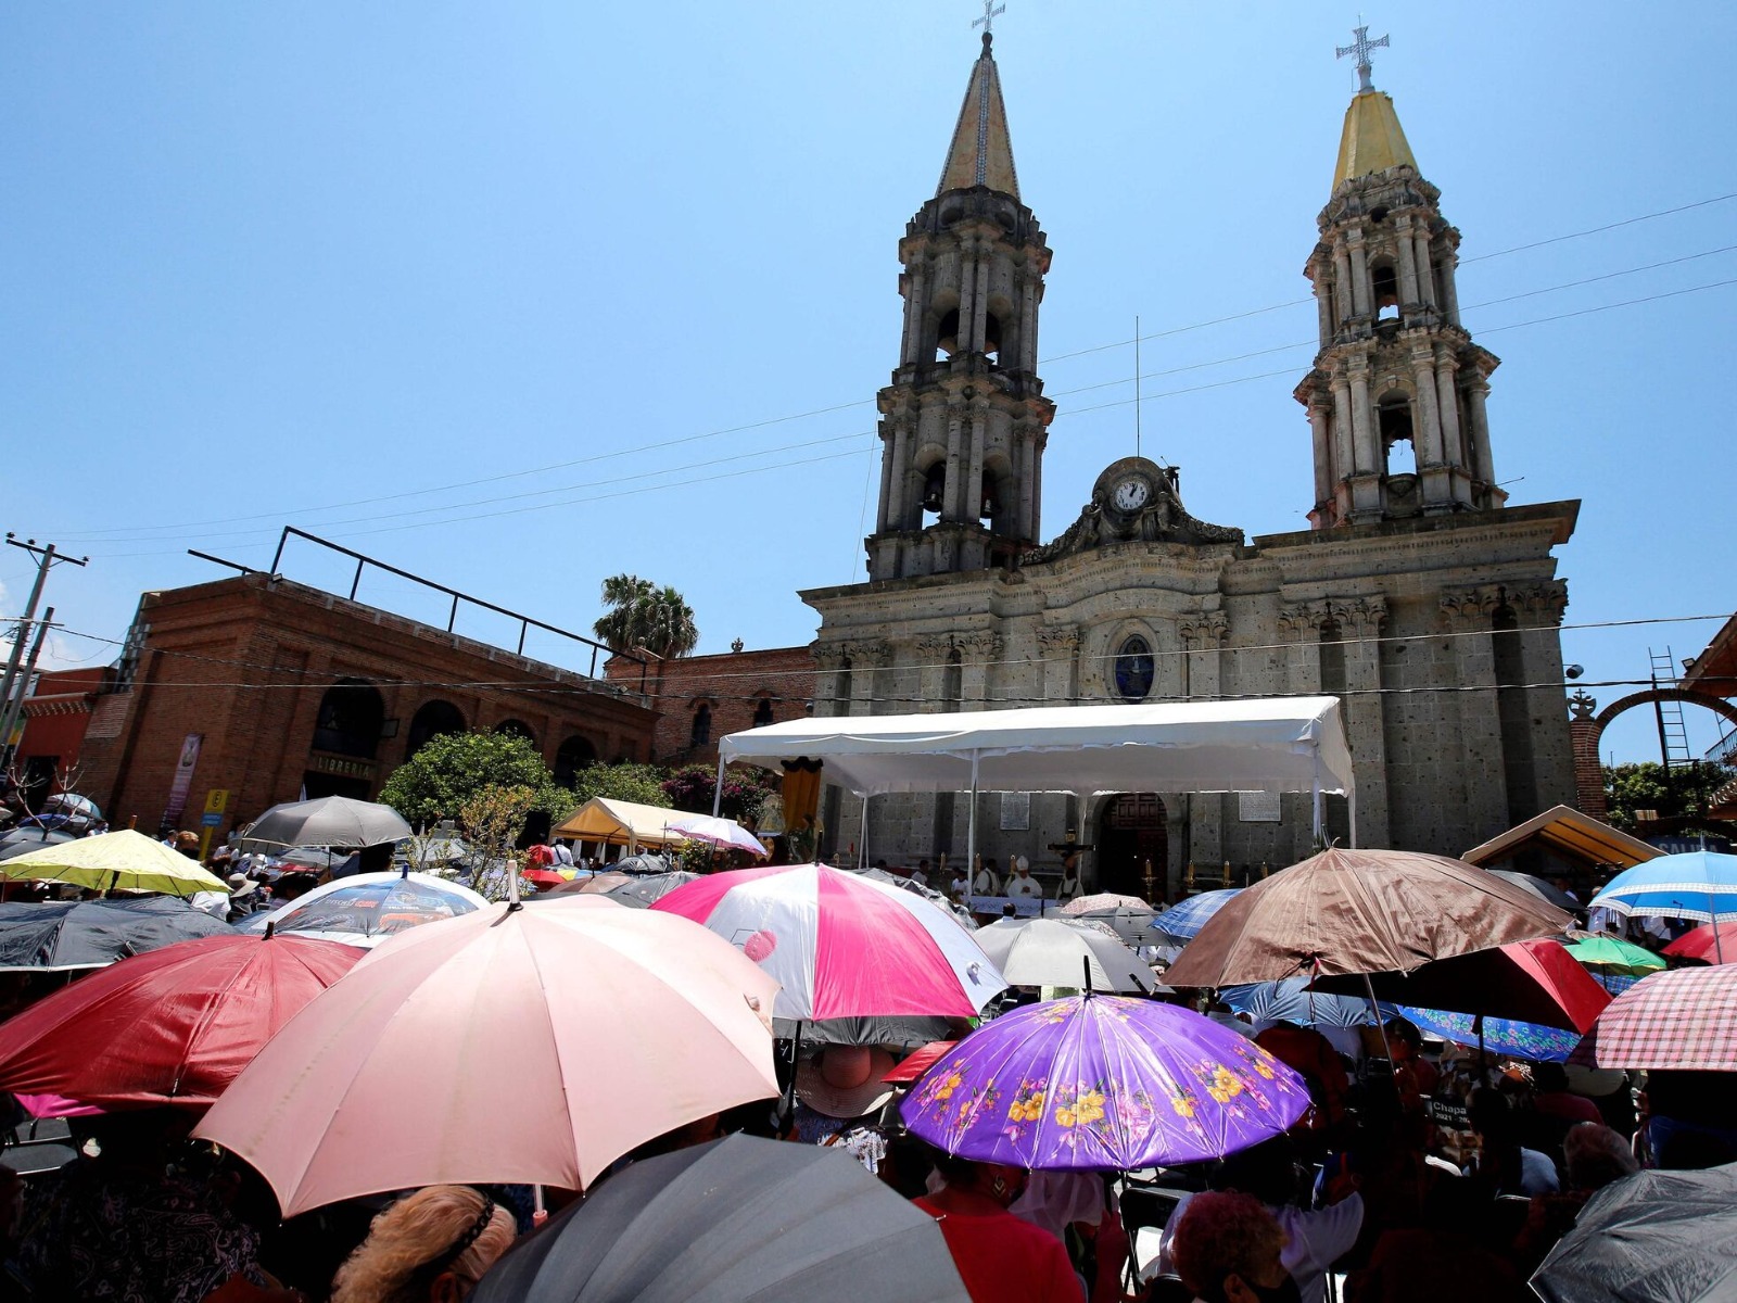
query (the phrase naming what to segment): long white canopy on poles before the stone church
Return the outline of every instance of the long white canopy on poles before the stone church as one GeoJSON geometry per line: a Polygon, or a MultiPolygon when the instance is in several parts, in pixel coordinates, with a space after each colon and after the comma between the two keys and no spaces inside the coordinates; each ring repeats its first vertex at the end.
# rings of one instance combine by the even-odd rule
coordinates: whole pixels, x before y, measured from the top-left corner
{"type": "Polygon", "coordinates": [[[799,756],[856,796],[881,792],[1343,792],[1336,697],[1035,705],[787,719],[730,733],[719,761],[799,756]]]}

